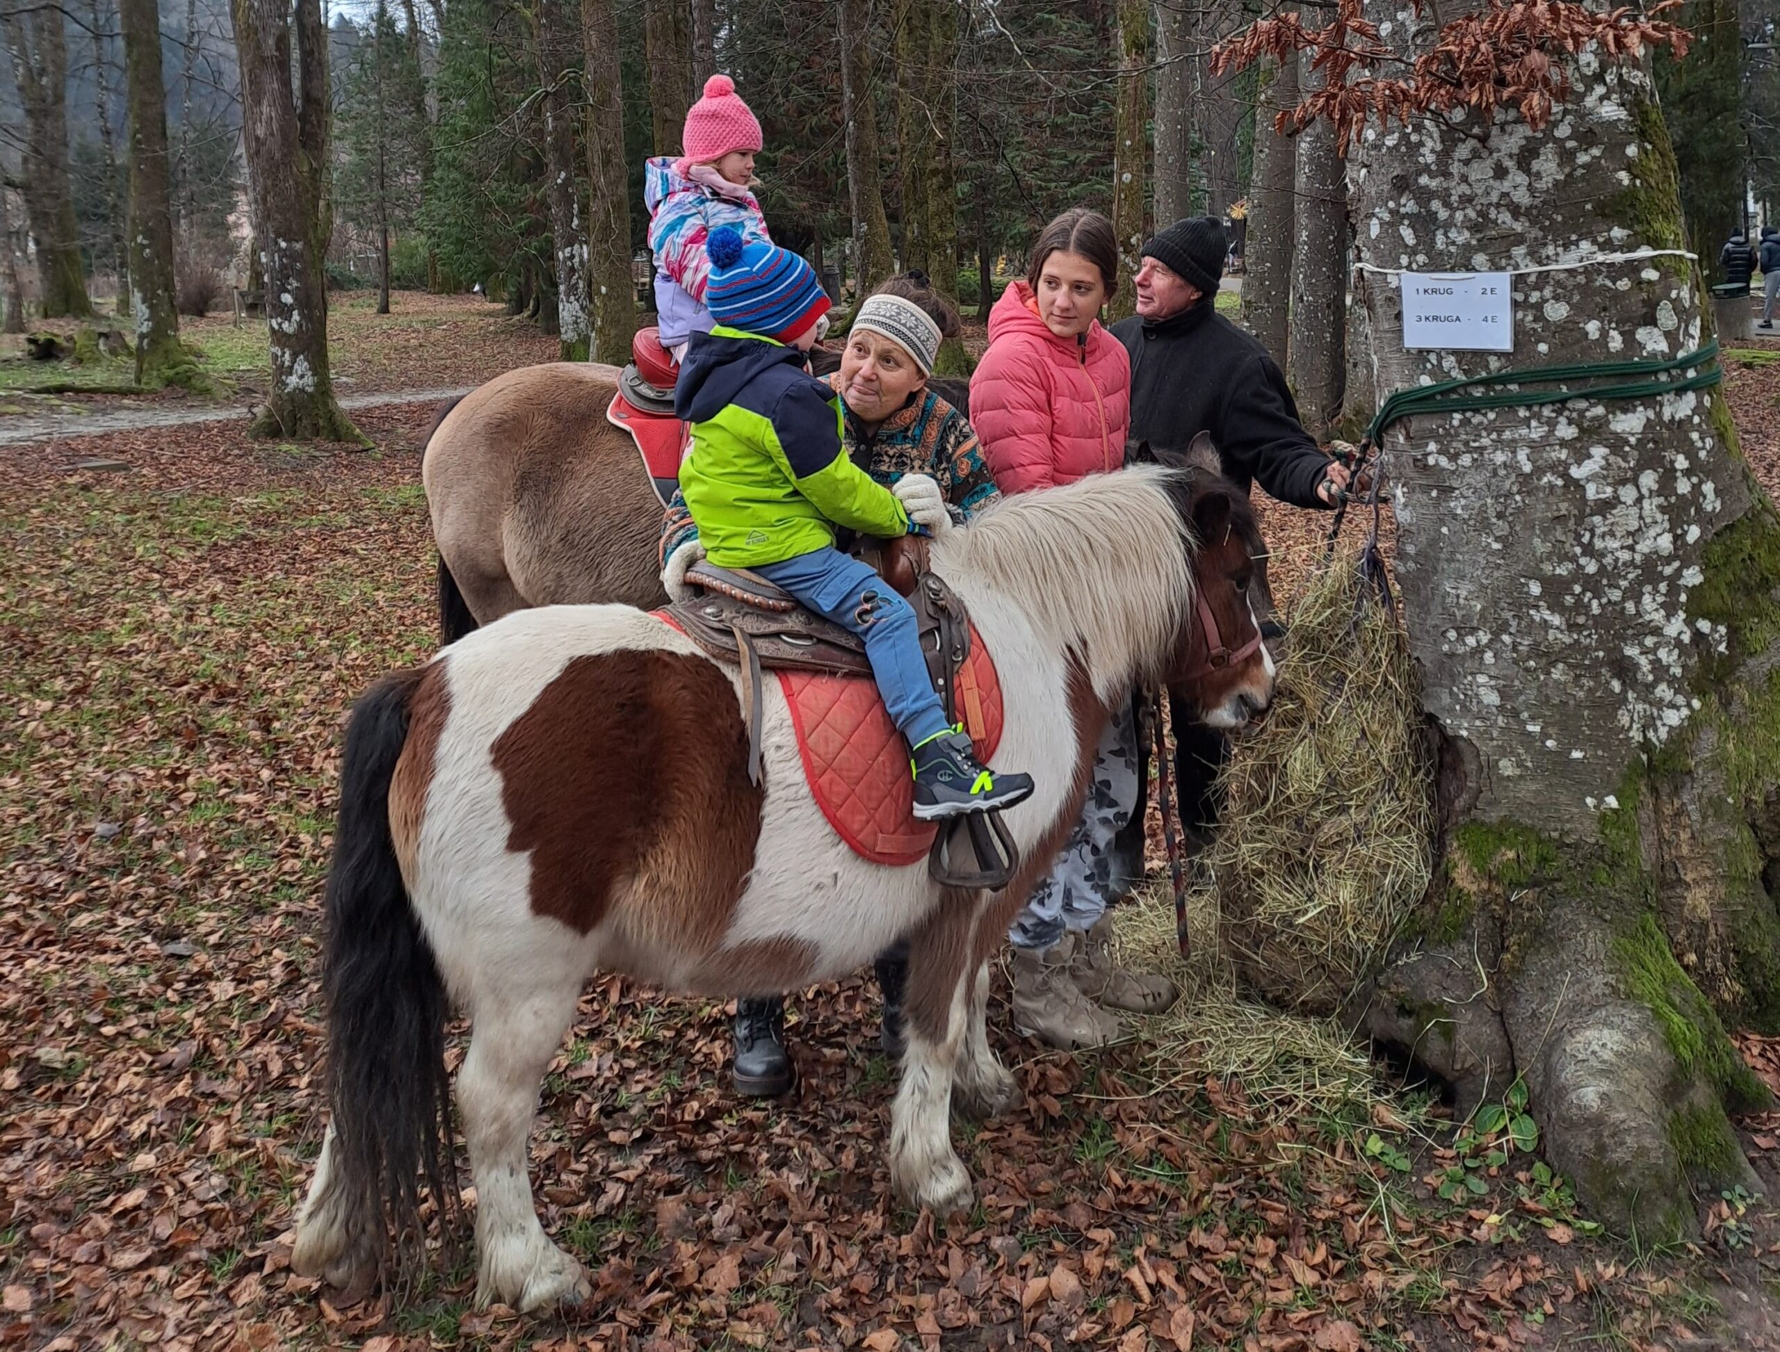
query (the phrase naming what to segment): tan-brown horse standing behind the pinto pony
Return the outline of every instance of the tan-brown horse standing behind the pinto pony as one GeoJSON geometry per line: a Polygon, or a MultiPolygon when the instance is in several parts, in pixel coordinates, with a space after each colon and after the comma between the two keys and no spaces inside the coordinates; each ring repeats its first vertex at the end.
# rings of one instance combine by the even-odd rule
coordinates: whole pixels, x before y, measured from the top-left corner
{"type": "MultiPolygon", "coordinates": [[[[812,352],[817,374],[838,363],[812,352]]],[[[965,381],[931,384],[968,416],[965,381]]],[[[616,366],[554,361],[440,409],[420,480],[443,642],[534,605],[666,603],[662,505],[630,434],[605,420],[616,391],[616,366]]]]}

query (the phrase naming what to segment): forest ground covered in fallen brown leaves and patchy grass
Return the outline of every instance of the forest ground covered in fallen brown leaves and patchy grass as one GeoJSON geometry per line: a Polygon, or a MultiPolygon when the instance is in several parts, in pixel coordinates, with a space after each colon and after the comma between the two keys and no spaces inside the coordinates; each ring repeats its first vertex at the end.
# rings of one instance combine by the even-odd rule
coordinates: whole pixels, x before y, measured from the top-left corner
{"type": "MultiPolygon", "coordinates": [[[[411,372],[349,368],[470,384],[493,368],[450,363],[482,340],[554,356],[495,306],[461,329],[411,372]]],[[[1755,349],[1730,393],[1775,491],[1780,345],[1755,349]]],[[[228,423],[0,448],[0,1345],[1780,1347],[1764,1201],[1702,1197],[1693,1245],[1602,1235],[1524,1126],[1468,1140],[1330,1030],[1218,1007],[1209,959],[1161,1050],[1153,1025],[1048,1053],[997,987],[1025,1103],[958,1124],[981,1203],[951,1227],[890,1201],[869,980],[792,1002],[803,1082],[776,1103],[730,1092],[721,1003],[600,980],[532,1167],[596,1299],[475,1309],[459,1247],[336,1306],[288,1267],[322,1126],[319,897],[344,710],[433,651],[429,418],[361,411],[370,452],[228,423]],[[1239,1026],[1258,1051],[1214,1073],[1239,1026]]],[[[1266,521],[1285,598],[1323,523],[1266,521]]],[[[1780,1042],[1746,1050],[1780,1087],[1780,1042]]],[[[1780,1115],[1741,1126],[1780,1188],[1780,1115]]]]}

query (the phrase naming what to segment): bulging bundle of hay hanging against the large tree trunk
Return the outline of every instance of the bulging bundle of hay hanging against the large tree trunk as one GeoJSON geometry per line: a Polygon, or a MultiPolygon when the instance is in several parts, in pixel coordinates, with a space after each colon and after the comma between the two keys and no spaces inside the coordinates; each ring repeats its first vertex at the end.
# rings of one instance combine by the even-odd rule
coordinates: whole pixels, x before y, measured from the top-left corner
{"type": "Polygon", "coordinates": [[[1266,1000],[1333,1014],[1428,888],[1433,809],[1420,701],[1399,621],[1362,591],[1358,551],[1289,614],[1273,712],[1225,770],[1223,825],[1196,907],[1266,1000]]]}

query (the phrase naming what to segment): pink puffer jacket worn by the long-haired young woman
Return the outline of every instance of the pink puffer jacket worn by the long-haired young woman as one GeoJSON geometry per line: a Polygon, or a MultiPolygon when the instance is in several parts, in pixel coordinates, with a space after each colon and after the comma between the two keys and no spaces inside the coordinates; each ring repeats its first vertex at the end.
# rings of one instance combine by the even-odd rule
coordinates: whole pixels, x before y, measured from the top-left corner
{"type": "Polygon", "coordinates": [[[1095,320],[1057,338],[1015,281],[990,311],[990,350],[970,377],[970,425],[1002,493],[1118,470],[1130,432],[1130,356],[1095,320]]]}

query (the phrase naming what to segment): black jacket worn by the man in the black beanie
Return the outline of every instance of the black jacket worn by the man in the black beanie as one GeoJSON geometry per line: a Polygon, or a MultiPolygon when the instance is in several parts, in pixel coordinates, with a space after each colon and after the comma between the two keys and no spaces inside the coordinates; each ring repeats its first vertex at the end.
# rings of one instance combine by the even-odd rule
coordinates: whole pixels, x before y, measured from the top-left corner
{"type": "Polygon", "coordinates": [[[1294,507],[1328,507],[1317,484],[1323,454],[1285,386],[1285,374],[1253,336],[1218,313],[1212,297],[1150,324],[1120,320],[1112,334],[1130,352],[1130,436],[1157,450],[1185,450],[1210,432],[1225,473],[1244,491],[1258,480],[1294,507]]]}

